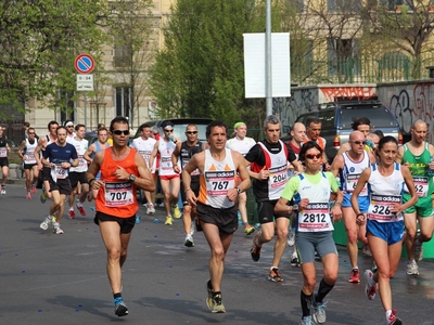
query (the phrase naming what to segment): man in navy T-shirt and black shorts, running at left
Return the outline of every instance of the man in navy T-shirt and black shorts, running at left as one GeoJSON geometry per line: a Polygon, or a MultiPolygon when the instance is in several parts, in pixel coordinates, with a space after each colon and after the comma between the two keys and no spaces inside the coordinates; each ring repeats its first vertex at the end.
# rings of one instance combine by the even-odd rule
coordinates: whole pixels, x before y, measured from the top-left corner
{"type": "Polygon", "coordinates": [[[74,145],[66,142],[66,129],[56,129],[58,140],[49,144],[43,151],[41,162],[50,168],[50,192],[53,203],[50,206],[50,213],[42,221],[40,227],[47,230],[52,223],[54,233],[63,234],[61,220],[65,208],[66,196],[71,194],[71,183],[68,179],[69,168],[78,166],[78,155],[74,145]]]}

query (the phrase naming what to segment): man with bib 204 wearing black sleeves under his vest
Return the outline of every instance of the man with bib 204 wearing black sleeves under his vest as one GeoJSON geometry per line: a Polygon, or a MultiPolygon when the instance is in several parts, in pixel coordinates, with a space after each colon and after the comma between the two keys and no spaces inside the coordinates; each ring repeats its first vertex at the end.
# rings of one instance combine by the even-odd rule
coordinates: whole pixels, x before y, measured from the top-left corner
{"type": "Polygon", "coordinates": [[[276,231],[278,235],[268,274],[268,280],[272,282],[283,281],[279,272],[279,263],[286,247],[290,216],[275,213],[275,206],[288,181],[288,161],[294,166],[295,171],[303,171],[290,145],[279,140],[280,130],[280,119],[275,115],[268,116],[264,121],[266,139],[257,142],[244,157],[246,166],[251,166],[248,173],[253,178],[253,193],[258,204],[260,222],[260,231],[253,238],[251,249],[252,259],[255,262],[260,258],[263,244],[270,242],[276,231]]]}

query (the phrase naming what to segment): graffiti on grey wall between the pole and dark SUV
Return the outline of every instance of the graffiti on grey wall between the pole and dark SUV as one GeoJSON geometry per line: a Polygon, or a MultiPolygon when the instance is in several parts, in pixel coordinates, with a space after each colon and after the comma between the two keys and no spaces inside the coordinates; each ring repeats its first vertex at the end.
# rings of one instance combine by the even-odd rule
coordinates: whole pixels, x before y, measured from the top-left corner
{"type": "Polygon", "coordinates": [[[298,115],[317,108],[315,89],[291,91],[291,98],[273,99],[273,114],[279,116],[283,127],[291,127],[298,115]]]}

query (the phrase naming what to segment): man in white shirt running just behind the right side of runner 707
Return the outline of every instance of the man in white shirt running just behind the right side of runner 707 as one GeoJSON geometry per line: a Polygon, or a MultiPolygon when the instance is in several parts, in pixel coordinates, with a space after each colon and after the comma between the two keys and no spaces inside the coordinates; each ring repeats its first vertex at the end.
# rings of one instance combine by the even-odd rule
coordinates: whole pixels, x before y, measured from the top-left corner
{"type": "MultiPolygon", "coordinates": [[[[153,166],[150,166],[150,159],[152,151],[154,150],[156,140],[152,138],[151,126],[150,125],[141,125],[140,126],[140,136],[132,140],[132,145],[135,150],[142,155],[144,161],[146,161],[148,168],[151,170],[152,179],[155,178],[155,160],[153,166]]],[[[154,192],[144,191],[144,197],[146,199],[146,214],[154,214],[154,192]]],[[[144,206],[144,204],[143,204],[144,206]]]]}

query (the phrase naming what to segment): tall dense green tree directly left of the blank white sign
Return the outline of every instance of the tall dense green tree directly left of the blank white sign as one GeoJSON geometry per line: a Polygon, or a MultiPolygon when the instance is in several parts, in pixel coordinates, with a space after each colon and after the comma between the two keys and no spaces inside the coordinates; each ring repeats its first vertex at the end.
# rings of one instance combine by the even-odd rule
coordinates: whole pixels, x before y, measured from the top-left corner
{"type": "MultiPolygon", "coordinates": [[[[178,0],[164,28],[165,47],[150,72],[159,117],[210,117],[258,126],[244,98],[243,34],[264,32],[254,0],[178,0]]],[[[260,117],[259,117],[260,119],[260,117]]]]}

